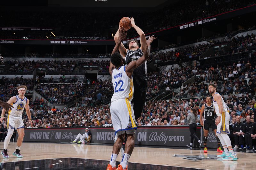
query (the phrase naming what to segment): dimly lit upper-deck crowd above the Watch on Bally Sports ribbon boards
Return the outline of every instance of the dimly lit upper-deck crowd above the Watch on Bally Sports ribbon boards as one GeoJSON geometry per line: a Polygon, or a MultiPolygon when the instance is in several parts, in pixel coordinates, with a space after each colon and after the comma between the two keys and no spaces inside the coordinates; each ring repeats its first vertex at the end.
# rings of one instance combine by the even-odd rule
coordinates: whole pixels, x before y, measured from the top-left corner
{"type": "MultiPolygon", "coordinates": [[[[5,11],[1,15],[6,27],[36,27],[36,28],[52,28],[55,36],[49,31],[22,31],[19,34],[13,34],[10,31],[2,31],[1,37],[8,39],[20,39],[27,37],[28,39],[110,39],[111,32],[105,33],[109,28],[114,28],[120,20],[120,16],[137,16],[136,23],[144,30],[150,33],[156,30],[177,26],[194,20],[210,17],[223,12],[233,11],[248,5],[254,4],[254,1],[245,0],[198,0],[181,2],[166,5],[162,9],[148,12],[127,11],[109,12],[69,12],[69,11],[5,11]],[[165,17],[162,17],[165,16],[165,17]],[[107,18],[107,19],[106,19],[107,18]],[[109,19],[111,18],[111,19],[109,19]],[[150,18],[145,20],[144,18],[150,18]],[[40,20],[40,22],[35,22],[40,20]],[[58,22],[56,22],[56,20],[58,22]],[[78,24],[77,24],[78,23],[78,24]],[[93,23],[93,24],[92,24],[93,23]],[[108,26],[106,28],[105,26],[108,26]],[[55,29],[62,27],[63,29],[55,29]],[[24,34],[25,33],[25,34],[24,34]]],[[[107,31],[108,32],[108,31],[107,31]]],[[[131,30],[128,34],[130,38],[137,36],[135,30],[131,30]]]]}

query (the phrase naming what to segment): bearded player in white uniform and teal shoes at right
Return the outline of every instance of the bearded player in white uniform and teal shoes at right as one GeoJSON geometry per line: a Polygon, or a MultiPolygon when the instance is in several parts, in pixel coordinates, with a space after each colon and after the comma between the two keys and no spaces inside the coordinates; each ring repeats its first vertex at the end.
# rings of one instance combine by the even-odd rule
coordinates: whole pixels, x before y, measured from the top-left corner
{"type": "Polygon", "coordinates": [[[216,119],[217,125],[217,137],[219,137],[220,142],[223,146],[224,152],[222,155],[218,155],[219,158],[223,160],[237,160],[236,153],[234,153],[231,141],[228,137],[229,131],[229,119],[230,115],[226,107],[226,103],[219,93],[216,92],[216,85],[209,84],[208,90],[213,97],[213,106],[216,114],[218,115],[216,119]]]}

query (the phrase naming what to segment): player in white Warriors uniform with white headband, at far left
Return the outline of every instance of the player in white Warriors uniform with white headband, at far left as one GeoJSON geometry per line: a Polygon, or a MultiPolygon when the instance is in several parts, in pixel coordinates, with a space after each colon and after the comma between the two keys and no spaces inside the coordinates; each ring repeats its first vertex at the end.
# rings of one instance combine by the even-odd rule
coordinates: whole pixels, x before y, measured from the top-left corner
{"type": "MultiPolygon", "coordinates": [[[[20,147],[23,141],[24,137],[24,123],[22,120],[22,113],[24,108],[26,108],[26,113],[28,115],[28,120],[30,124],[32,124],[31,121],[31,115],[30,115],[30,110],[28,107],[29,100],[24,96],[27,90],[27,87],[25,85],[21,85],[17,87],[18,89],[18,95],[11,97],[10,100],[7,101],[7,103],[12,105],[12,109],[9,109],[8,111],[8,117],[7,117],[7,136],[4,139],[4,151],[1,152],[4,158],[9,158],[9,155],[7,153],[7,147],[10,142],[10,139],[12,137],[14,128],[17,130],[19,137],[17,140],[17,146],[16,146],[16,151],[13,152],[14,156],[17,156],[19,158],[22,158],[23,156],[20,154],[20,147]]],[[[0,121],[3,122],[4,119],[4,113],[5,109],[2,110],[2,115],[0,121]]]]}

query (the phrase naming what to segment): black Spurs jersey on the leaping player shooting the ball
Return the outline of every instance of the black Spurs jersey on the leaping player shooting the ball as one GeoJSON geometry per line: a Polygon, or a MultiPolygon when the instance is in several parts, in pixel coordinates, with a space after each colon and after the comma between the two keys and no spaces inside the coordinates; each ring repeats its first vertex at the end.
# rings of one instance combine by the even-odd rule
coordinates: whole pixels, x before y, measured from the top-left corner
{"type": "MultiPolygon", "coordinates": [[[[127,64],[129,64],[132,61],[138,60],[140,57],[142,57],[142,55],[143,55],[143,52],[140,48],[135,51],[128,49],[126,56],[125,56],[125,61],[127,64]]],[[[146,76],[146,74],[147,74],[147,61],[144,64],[142,64],[140,67],[136,68],[133,71],[132,75],[133,76],[146,76]]]]}

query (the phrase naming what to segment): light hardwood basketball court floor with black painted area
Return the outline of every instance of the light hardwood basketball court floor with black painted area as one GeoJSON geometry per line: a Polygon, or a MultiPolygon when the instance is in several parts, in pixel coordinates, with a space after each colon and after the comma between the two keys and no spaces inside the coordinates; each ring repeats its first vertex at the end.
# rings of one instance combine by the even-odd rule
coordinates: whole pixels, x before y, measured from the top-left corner
{"type": "MultiPolygon", "coordinates": [[[[4,142],[0,143],[3,149],[4,142]]],[[[23,143],[23,158],[12,155],[16,143],[8,147],[9,159],[1,155],[0,169],[106,169],[112,145],[67,144],[67,143],[23,143]]],[[[129,159],[128,169],[256,169],[255,152],[237,152],[237,161],[218,160],[215,150],[138,147],[135,146],[129,159]]],[[[121,161],[118,155],[116,164],[121,161]]]]}

